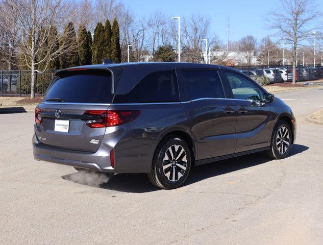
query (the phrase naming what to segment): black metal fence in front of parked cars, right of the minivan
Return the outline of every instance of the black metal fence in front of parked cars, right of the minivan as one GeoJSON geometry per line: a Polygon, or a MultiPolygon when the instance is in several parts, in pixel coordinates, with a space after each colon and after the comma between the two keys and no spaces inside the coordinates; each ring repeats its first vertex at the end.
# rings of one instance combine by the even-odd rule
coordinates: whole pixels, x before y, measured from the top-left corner
{"type": "MultiPolygon", "coordinates": [[[[250,77],[268,77],[270,83],[291,82],[293,78],[293,67],[291,65],[272,66],[255,65],[255,66],[232,66],[250,77]],[[269,74],[272,74],[271,76],[269,74]]],[[[296,67],[296,82],[313,81],[323,78],[322,65],[299,65],[296,67]]]]}

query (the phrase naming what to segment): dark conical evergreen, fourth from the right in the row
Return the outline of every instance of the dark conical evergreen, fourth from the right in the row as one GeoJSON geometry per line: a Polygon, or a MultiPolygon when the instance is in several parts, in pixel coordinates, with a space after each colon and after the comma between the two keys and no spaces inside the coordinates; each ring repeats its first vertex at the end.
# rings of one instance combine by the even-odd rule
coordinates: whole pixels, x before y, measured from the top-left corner
{"type": "Polygon", "coordinates": [[[78,55],[80,65],[91,64],[91,46],[84,26],[80,26],[78,30],[78,55]]]}

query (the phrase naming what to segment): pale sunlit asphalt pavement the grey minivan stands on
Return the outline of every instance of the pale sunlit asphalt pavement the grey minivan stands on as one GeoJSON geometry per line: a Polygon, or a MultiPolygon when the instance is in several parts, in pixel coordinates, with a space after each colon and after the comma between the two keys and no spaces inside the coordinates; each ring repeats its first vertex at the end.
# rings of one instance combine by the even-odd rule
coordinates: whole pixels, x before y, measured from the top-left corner
{"type": "Polygon", "coordinates": [[[297,119],[288,158],[262,153],[195,167],[185,186],[145,175],[98,187],[35,161],[33,113],[0,114],[0,244],[323,244],[323,90],[277,94],[297,119]]]}

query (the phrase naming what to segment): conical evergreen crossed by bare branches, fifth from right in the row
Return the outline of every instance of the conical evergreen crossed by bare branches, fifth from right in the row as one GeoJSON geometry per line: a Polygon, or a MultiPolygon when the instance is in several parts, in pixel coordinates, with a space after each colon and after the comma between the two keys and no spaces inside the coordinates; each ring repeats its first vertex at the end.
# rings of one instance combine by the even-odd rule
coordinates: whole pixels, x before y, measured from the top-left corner
{"type": "MultiPolygon", "coordinates": [[[[73,43],[76,40],[76,32],[74,24],[69,22],[64,29],[63,36],[61,37],[62,43],[73,43]]],[[[77,48],[72,48],[70,51],[66,52],[64,55],[60,56],[60,68],[67,68],[79,65],[78,51],[77,48]]]]}

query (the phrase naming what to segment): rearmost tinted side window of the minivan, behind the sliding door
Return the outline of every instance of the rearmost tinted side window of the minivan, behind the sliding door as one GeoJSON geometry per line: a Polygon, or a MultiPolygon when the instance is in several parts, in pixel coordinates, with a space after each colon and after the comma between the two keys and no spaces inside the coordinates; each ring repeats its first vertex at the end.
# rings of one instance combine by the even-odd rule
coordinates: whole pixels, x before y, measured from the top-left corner
{"type": "Polygon", "coordinates": [[[113,103],[179,102],[175,71],[158,71],[144,77],[128,94],[117,94],[113,103]]]}

